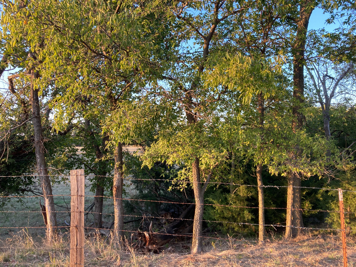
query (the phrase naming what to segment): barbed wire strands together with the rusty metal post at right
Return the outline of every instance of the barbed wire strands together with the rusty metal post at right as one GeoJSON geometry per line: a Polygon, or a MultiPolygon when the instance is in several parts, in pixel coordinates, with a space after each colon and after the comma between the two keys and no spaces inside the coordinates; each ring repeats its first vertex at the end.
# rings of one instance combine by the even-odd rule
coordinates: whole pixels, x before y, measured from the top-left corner
{"type": "MultiPolygon", "coordinates": [[[[0,176],[0,178],[2,177],[25,177],[25,176],[35,176],[36,174],[26,174],[26,175],[22,175],[22,176],[0,176]]],[[[65,177],[65,178],[71,178],[72,179],[72,175],[64,175],[64,174],[59,174],[59,175],[51,175],[51,176],[60,176],[60,177],[65,177]]],[[[81,181],[83,182],[84,180],[88,180],[89,178],[95,178],[95,177],[106,177],[106,178],[114,178],[113,176],[95,176],[95,175],[86,175],[84,176],[84,171],[82,172],[82,174],[79,174],[79,176],[82,176],[81,181]]],[[[142,180],[142,181],[149,181],[149,182],[154,182],[154,181],[161,181],[161,182],[171,182],[172,184],[175,183],[191,183],[191,181],[189,180],[172,180],[172,179],[139,179],[139,178],[131,178],[131,177],[124,177],[124,180],[142,180]]],[[[206,182],[200,182],[201,184],[205,184],[206,182]]],[[[241,186],[241,187],[258,187],[258,185],[248,185],[248,184],[238,184],[238,183],[224,183],[224,182],[207,182],[208,184],[217,184],[217,185],[233,185],[233,186],[241,186]]],[[[91,184],[89,184],[90,186],[91,184]]],[[[84,185],[85,187],[85,185],[84,185]]],[[[264,185],[264,188],[288,188],[288,186],[279,186],[279,185],[264,185]]],[[[293,186],[293,188],[297,188],[295,186],[293,186]]],[[[340,210],[320,210],[320,209],[296,209],[296,210],[301,210],[301,211],[310,211],[310,212],[325,212],[325,213],[339,213],[340,214],[340,222],[341,222],[341,228],[340,229],[333,229],[333,228],[329,228],[329,227],[325,227],[325,228],[316,228],[316,227],[297,227],[297,226],[293,226],[293,225],[282,225],[282,224],[263,224],[263,226],[269,226],[269,227],[273,227],[275,230],[277,230],[279,227],[280,229],[283,228],[287,228],[287,227],[291,227],[291,228],[296,228],[296,229],[300,229],[300,230],[311,230],[311,231],[336,231],[336,232],[340,232],[341,233],[341,237],[342,237],[342,245],[343,245],[343,259],[344,259],[344,266],[347,266],[347,255],[346,255],[346,228],[345,228],[345,219],[344,219],[344,214],[356,214],[356,212],[350,212],[350,211],[344,211],[344,206],[343,206],[343,196],[342,196],[342,192],[351,192],[351,193],[356,193],[356,191],[354,190],[345,190],[345,189],[335,189],[335,188],[322,188],[322,187],[298,187],[298,188],[303,188],[303,189],[319,189],[319,190],[328,190],[328,191],[337,191],[339,193],[339,204],[340,204],[340,210]]],[[[70,197],[71,199],[73,199],[73,197],[82,197],[84,198],[95,198],[95,197],[103,197],[106,199],[114,199],[113,197],[107,196],[107,195],[103,195],[103,196],[96,196],[96,195],[89,195],[89,194],[73,194],[71,192],[64,192],[63,194],[53,194],[51,195],[52,197],[62,197],[64,200],[64,197],[70,197]]],[[[41,198],[44,197],[43,195],[6,195],[6,196],[1,196],[0,198],[17,198],[17,199],[21,199],[21,198],[41,198]]],[[[48,196],[49,197],[49,196],[48,196]]],[[[122,198],[122,200],[126,200],[126,201],[142,201],[142,202],[151,202],[151,203],[165,203],[165,204],[180,204],[180,205],[194,205],[195,203],[192,202],[179,202],[179,201],[164,201],[164,200],[148,200],[148,199],[131,199],[131,198],[122,198]]],[[[83,202],[84,203],[84,202],[83,202]]],[[[238,205],[223,205],[223,204],[210,204],[210,203],[206,203],[204,204],[206,206],[221,206],[221,207],[230,207],[230,208],[247,208],[247,209],[260,209],[259,207],[255,207],[255,206],[238,206],[238,205]]],[[[96,212],[89,210],[86,211],[84,210],[84,206],[83,209],[80,211],[73,211],[73,210],[69,210],[69,207],[67,205],[67,207],[62,206],[63,208],[67,208],[67,211],[54,211],[57,214],[62,214],[62,213],[67,213],[69,214],[82,214],[84,215],[84,213],[86,213],[86,215],[88,214],[96,214],[96,212]]],[[[274,210],[288,210],[288,208],[283,208],[283,207],[264,207],[263,209],[274,209],[274,210]]],[[[11,214],[11,213],[42,213],[42,211],[40,210],[28,210],[28,211],[18,211],[18,210],[12,210],[12,211],[7,211],[7,210],[0,210],[0,214],[11,214]]],[[[114,213],[100,213],[101,215],[109,215],[109,216],[114,216],[114,213]]],[[[174,217],[169,217],[169,218],[164,218],[162,216],[152,216],[152,215],[147,215],[147,214],[142,214],[142,215],[133,215],[133,214],[124,214],[124,217],[130,217],[130,218],[138,218],[138,220],[142,219],[143,220],[152,220],[152,219],[159,219],[159,220],[184,220],[184,221],[191,221],[193,223],[194,219],[182,219],[182,218],[174,218],[174,217]]],[[[71,217],[71,216],[70,216],[71,217]]],[[[138,220],[131,220],[131,221],[126,221],[125,223],[130,223],[130,222],[135,222],[138,220]]],[[[217,221],[217,220],[202,220],[203,222],[206,223],[216,223],[216,224],[231,224],[231,225],[239,225],[239,226],[260,226],[261,224],[257,224],[257,223],[249,223],[249,222],[230,222],[230,221],[217,221]]],[[[72,231],[72,229],[78,229],[78,225],[69,225],[66,221],[66,226],[57,226],[58,229],[65,229],[68,231],[68,229],[70,229],[70,231],[72,231]]],[[[70,222],[72,223],[72,222],[70,222]]],[[[62,223],[63,224],[63,223],[62,223]]],[[[80,225],[79,227],[83,227],[84,230],[86,230],[87,232],[90,231],[106,231],[106,235],[109,236],[108,232],[112,233],[114,230],[111,229],[112,224],[110,227],[106,227],[106,228],[96,228],[96,227],[87,227],[84,226],[84,221],[83,221],[83,225],[80,225]]],[[[46,229],[47,226],[0,226],[0,229],[7,229],[7,230],[12,230],[12,229],[17,229],[17,230],[25,230],[25,229],[46,229]]],[[[143,230],[122,230],[128,234],[131,235],[137,235],[137,234],[143,234],[145,233],[145,231],[143,230]]],[[[351,229],[347,229],[347,232],[356,232],[356,230],[351,230],[351,229]]],[[[72,234],[72,233],[71,233],[72,234]]],[[[156,235],[169,235],[172,237],[192,237],[191,233],[188,234],[172,234],[172,233],[162,233],[160,232],[158,234],[158,232],[154,232],[152,234],[156,234],[156,235]]],[[[202,235],[199,236],[202,239],[212,239],[212,240],[227,240],[230,241],[232,240],[232,238],[229,236],[229,238],[226,237],[221,237],[221,236],[216,236],[218,235],[217,233],[210,233],[209,235],[202,235]],[[214,236],[215,235],[215,236],[214,236]]],[[[62,250],[62,251],[67,251],[67,252],[72,252],[72,251],[76,251],[78,252],[78,250],[82,250],[82,252],[84,252],[84,236],[83,236],[83,240],[82,240],[82,246],[76,246],[76,247],[66,247],[66,248],[55,248],[55,250],[62,250]]],[[[257,242],[257,241],[256,241],[257,242]]],[[[14,247],[14,246],[10,246],[10,247],[6,247],[6,246],[0,246],[0,249],[11,249],[11,250],[21,250],[21,249],[26,249],[26,247],[14,247]]],[[[83,260],[84,260],[84,256],[83,256],[83,260]]],[[[0,263],[9,263],[9,262],[2,262],[0,261],[0,263]]],[[[15,262],[16,263],[16,262],[15,262]]],[[[35,266],[35,265],[43,265],[43,263],[30,263],[30,262],[18,262],[22,265],[28,265],[28,266],[35,266]]],[[[99,266],[95,266],[89,263],[84,263],[83,262],[71,262],[72,266],[93,266],[93,267],[99,267],[99,266]]],[[[46,265],[50,266],[50,265],[57,265],[58,263],[51,263],[51,262],[46,262],[46,265]]]]}

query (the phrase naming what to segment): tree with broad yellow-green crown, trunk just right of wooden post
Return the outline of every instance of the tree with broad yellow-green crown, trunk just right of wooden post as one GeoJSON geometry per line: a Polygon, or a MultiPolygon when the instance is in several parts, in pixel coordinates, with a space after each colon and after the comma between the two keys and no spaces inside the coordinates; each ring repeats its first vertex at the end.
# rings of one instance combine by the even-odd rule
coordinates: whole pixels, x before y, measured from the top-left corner
{"type": "MultiPolygon", "coordinates": [[[[33,34],[28,38],[35,41],[45,36],[46,49],[38,56],[46,70],[41,74],[54,79],[58,90],[51,105],[55,111],[54,128],[66,129],[73,114],[80,120],[95,118],[103,126],[103,138],[108,136],[107,145],[115,147],[114,230],[121,240],[121,147],[123,142],[139,138],[127,116],[114,124],[111,119],[121,110],[140,103],[136,99],[150,83],[148,78],[165,66],[157,60],[161,59],[162,48],[171,45],[166,31],[169,20],[168,24],[162,24],[156,15],[162,12],[161,4],[157,3],[146,7],[129,1],[120,4],[87,1],[83,5],[72,1],[37,1],[31,5],[41,8],[31,14],[27,27],[33,34]]],[[[150,121],[141,122],[141,126],[147,124],[152,125],[150,121]]]]}

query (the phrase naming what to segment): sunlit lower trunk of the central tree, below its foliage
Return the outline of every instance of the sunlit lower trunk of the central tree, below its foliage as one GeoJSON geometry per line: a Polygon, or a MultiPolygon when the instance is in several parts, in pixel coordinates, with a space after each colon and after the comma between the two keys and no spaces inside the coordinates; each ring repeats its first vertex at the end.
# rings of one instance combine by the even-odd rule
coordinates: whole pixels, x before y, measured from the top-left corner
{"type": "Polygon", "coordinates": [[[199,158],[195,158],[193,162],[193,190],[195,197],[195,213],[193,223],[193,241],[192,241],[192,254],[201,252],[201,234],[203,227],[203,213],[204,213],[204,192],[202,192],[200,182],[200,167],[199,158]]]}

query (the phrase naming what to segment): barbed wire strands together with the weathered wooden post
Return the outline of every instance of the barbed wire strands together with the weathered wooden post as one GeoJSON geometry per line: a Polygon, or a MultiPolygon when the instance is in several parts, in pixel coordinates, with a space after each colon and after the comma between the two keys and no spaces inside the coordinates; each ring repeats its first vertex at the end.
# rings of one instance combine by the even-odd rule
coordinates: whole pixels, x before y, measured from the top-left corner
{"type": "MultiPolygon", "coordinates": [[[[78,178],[78,183],[79,183],[79,180],[80,180],[80,186],[82,186],[82,189],[83,189],[83,193],[78,193],[78,192],[73,192],[73,194],[69,193],[69,194],[58,194],[58,195],[26,195],[26,196],[14,196],[14,195],[11,195],[11,196],[0,196],[0,198],[37,198],[37,197],[64,197],[64,196],[67,196],[67,197],[71,197],[71,202],[72,202],[72,208],[73,208],[73,203],[75,201],[78,201],[78,200],[75,200],[75,198],[73,197],[77,197],[77,198],[83,198],[83,206],[82,208],[80,208],[78,211],[53,211],[54,213],[71,213],[73,216],[72,217],[72,221],[71,221],[71,225],[69,226],[56,226],[56,227],[53,227],[53,228],[65,228],[65,229],[68,229],[70,228],[70,231],[71,231],[71,240],[72,240],[72,230],[77,230],[77,229],[81,229],[82,231],[82,235],[83,237],[79,237],[80,241],[83,241],[84,240],[84,229],[86,230],[95,230],[95,231],[98,231],[98,230],[106,230],[106,231],[109,231],[109,232],[115,232],[114,229],[108,229],[108,228],[96,228],[96,227],[84,227],[84,218],[80,219],[82,221],[79,221],[78,219],[78,224],[79,225],[73,225],[73,222],[74,222],[74,214],[83,214],[83,213],[91,213],[91,214],[101,214],[101,215],[115,215],[115,214],[111,214],[111,213],[96,213],[96,212],[91,212],[91,211],[87,211],[85,212],[84,211],[84,197],[87,197],[87,198],[90,198],[90,197],[102,197],[102,198],[108,198],[108,199],[121,199],[121,200],[128,200],[128,201],[145,201],[145,202],[152,202],[152,203],[168,203],[168,204],[185,204],[185,205],[195,205],[195,203],[189,203],[189,202],[178,202],[178,201],[164,201],[164,200],[148,200],[148,199],[130,199],[130,198],[114,198],[114,197],[109,197],[109,196],[96,196],[96,195],[85,195],[84,194],[84,170],[80,170],[82,171],[83,173],[82,174],[76,174],[77,175],[77,178],[78,178]],[[74,200],[73,200],[74,199],[74,200]],[[74,201],[74,202],[73,202],[74,201]],[[81,225],[80,225],[81,224],[81,225]]],[[[71,171],[71,174],[72,174],[72,171],[71,171]]],[[[33,176],[33,175],[26,175],[26,176],[33,176]]],[[[57,176],[66,176],[66,175],[57,175],[57,176]]],[[[23,176],[0,176],[0,177],[23,177],[23,176]]],[[[71,179],[72,179],[72,175],[70,176],[71,179]]],[[[109,178],[113,178],[112,176],[86,176],[87,178],[88,177],[109,177],[109,178]]],[[[177,181],[177,180],[169,180],[169,179],[137,179],[137,178],[124,178],[124,179],[127,179],[127,180],[147,180],[147,181],[157,181],[157,180],[161,180],[161,181],[165,181],[165,182],[186,182],[186,183],[191,183],[190,181],[177,181]]],[[[201,182],[201,184],[205,184],[206,182],[201,182]]],[[[224,185],[236,185],[236,186],[248,186],[248,187],[259,187],[258,185],[243,185],[243,184],[235,184],[235,183],[220,183],[220,182],[208,182],[209,184],[224,184],[224,185]]],[[[72,185],[73,183],[71,183],[72,185]]],[[[277,185],[265,185],[263,186],[264,188],[289,188],[289,186],[277,186],[277,185]]],[[[295,187],[295,186],[291,186],[292,188],[305,188],[305,189],[319,189],[319,190],[338,190],[339,193],[344,191],[344,192],[356,192],[356,191],[352,191],[352,190],[343,190],[343,189],[333,189],[333,188],[318,188],[318,187],[295,187]]],[[[72,188],[72,191],[74,189],[72,188]]],[[[64,198],[63,198],[64,199],[64,198]]],[[[76,203],[77,204],[77,203],[76,203]]],[[[221,205],[221,204],[210,204],[210,203],[207,203],[204,205],[208,205],[208,206],[221,206],[221,207],[231,207],[231,208],[247,208],[247,209],[274,209],[274,210],[288,210],[288,209],[293,209],[293,208],[279,208],[279,207],[265,207],[265,208],[260,208],[260,207],[253,207],[253,206],[237,206],[237,205],[221,205]]],[[[75,206],[75,205],[74,205],[75,206]]],[[[65,208],[65,207],[63,207],[65,208]]],[[[67,207],[69,209],[69,207],[67,207]]],[[[73,208],[74,209],[74,208],[73,208]]],[[[344,214],[344,213],[349,213],[349,214],[355,214],[355,212],[344,212],[343,210],[341,211],[341,206],[340,206],[340,211],[336,211],[336,210],[313,210],[313,209],[294,209],[294,210],[301,210],[301,211],[312,211],[312,212],[329,212],[329,213],[340,213],[340,214],[344,214]]],[[[0,211],[0,213],[42,213],[42,211],[0,211]]],[[[83,216],[83,215],[81,215],[83,216]]],[[[146,216],[145,214],[143,215],[123,215],[123,216],[130,216],[130,217],[140,217],[142,218],[142,220],[144,220],[145,218],[152,218],[152,219],[164,219],[164,220],[182,220],[182,221],[194,221],[194,219],[183,219],[183,218],[165,218],[165,217],[158,217],[158,216],[146,216]]],[[[79,218],[79,217],[78,217],[79,218]]],[[[290,227],[290,228],[295,228],[295,229],[304,229],[304,230],[323,230],[323,231],[341,231],[342,233],[345,233],[346,230],[345,229],[332,229],[332,228],[314,228],[314,227],[298,227],[298,226],[293,226],[293,225],[282,225],[282,224],[255,224],[255,223],[248,223],[248,222],[229,222],[229,221],[212,221],[212,220],[202,220],[202,221],[205,221],[205,222],[209,222],[209,223],[225,223],[225,224],[235,224],[235,225],[239,225],[239,226],[244,226],[244,225],[249,225],[249,226],[269,226],[269,227],[273,227],[274,229],[276,229],[276,227],[290,227]]],[[[131,222],[131,221],[130,221],[131,222]]],[[[25,227],[21,227],[21,226],[12,226],[12,227],[0,227],[0,229],[46,229],[47,226],[25,226],[25,227]]],[[[164,228],[163,228],[164,229],[164,228]]],[[[277,229],[276,229],[277,230],[277,229]]],[[[121,231],[121,232],[127,232],[127,233],[131,233],[132,235],[133,234],[139,234],[139,233],[147,233],[147,231],[139,231],[139,230],[136,230],[136,231],[133,231],[133,230],[118,230],[118,231],[121,231]]],[[[161,230],[162,231],[162,230],[161,230]]],[[[356,230],[347,230],[349,232],[356,232],[356,230]]],[[[170,234],[170,233],[167,233],[167,232],[152,232],[151,234],[153,235],[168,235],[168,236],[172,236],[172,237],[192,237],[192,233],[183,233],[183,234],[170,234]]],[[[215,233],[210,233],[210,235],[218,235],[216,232],[215,233]]],[[[224,238],[224,237],[220,237],[218,235],[218,237],[214,237],[214,236],[203,236],[203,235],[200,235],[200,236],[197,236],[197,237],[200,237],[200,238],[204,238],[204,239],[215,239],[215,240],[229,240],[231,241],[232,238],[229,237],[229,238],[224,238]]],[[[148,240],[148,239],[147,239],[148,240]]],[[[148,242],[148,241],[147,241],[148,242]]],[[[78,244],[77,244],[78,245],[78,244]]],[[[72,246],[72,244],[71,244],[72,246]]],[[[12,248],[12,249],[15,249],[16,247],[0,247],[0,248],[12,248]]],[[[25,248],[22,248],[22,249],[25,249],[25,248]]],[[[59,248],[61,249],[61,248],[59,248]]],[[[83,250],[83,255],[84,255],[84,241],[83,241],[83,244],[82,245],[79,245],[75,248],[62,248],[62,250],[66,250],[66,249],[69,249],[70,250],[70,253],[72,255],[72,252],[73,251],[76,251],[78,249],[82,249],[83,250]]],[[[56,250],[56,249],[55,249],[56,250]]],[[[345,246],[345,251],[346,251],[346,246],[345,246]]],[[[344,254],[346,255],[346,254],[344,254]]],[[[345,258],[345,257],[344,257],[345,258]]],[[[70,257],[70,262],[71,262],[71,266],[72,264],[74,264],[75,266],[77,265],[83,265],[85,266],[85,264],[83,264],[84,262],[84,258],[83,258],[83,261],[82,263],[78,263],[78,261],[72,261],[72,256],[70,257]]],[[[0,262],[2,263],[2,262],[0,262]]],[[[23,263],[23,262],[16,262],[16,263],[19,263],[19,264],[27,264],[27,263],[23,263]]],[[[40,264],[43,264],[43,263],[38,263],[38,265],[40,264]]],[[[56,263],[47,263],[46,264],[56,264],[56,263]]],[[[31,265],[37,265],[37,263],[32,263],[31,265]]]]}

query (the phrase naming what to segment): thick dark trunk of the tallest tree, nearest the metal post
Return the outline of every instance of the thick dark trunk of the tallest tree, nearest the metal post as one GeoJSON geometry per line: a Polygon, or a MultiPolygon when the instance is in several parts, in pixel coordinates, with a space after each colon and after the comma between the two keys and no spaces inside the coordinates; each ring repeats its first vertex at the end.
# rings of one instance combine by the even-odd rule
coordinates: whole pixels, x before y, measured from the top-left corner
{"type": "MultiPolygon", "coordinates": [[[[303,113],[301,112],[301,104],[304,102],[304,65],[305,65],[305,43],[307,40],[307,30],[310,15],[315,8],[314,0],[300,1],[299,6],[299,18],[297,20],[297,34],[295,37],[295,43],[292,47],[293,53],[293,115],[295,119],[292,122],[292,129],[296,132],[303,126],[303,113]]],[[[296,154],[301,153],[297,148],[296,154]]],[[[289,172],[288,179],[288,194],[287,194],[287,229],[285,238],[290,239],[299,234],[300,229],[292,227],[303,227],[302,213],[299,210],[301,205],[300,199],[300,179],[301,175],[293,172],[289,172]],[[291,188],[294,186],[294,188],[291,188]],[[288,214],[288,211],[291,214],[288,214]]]]}

